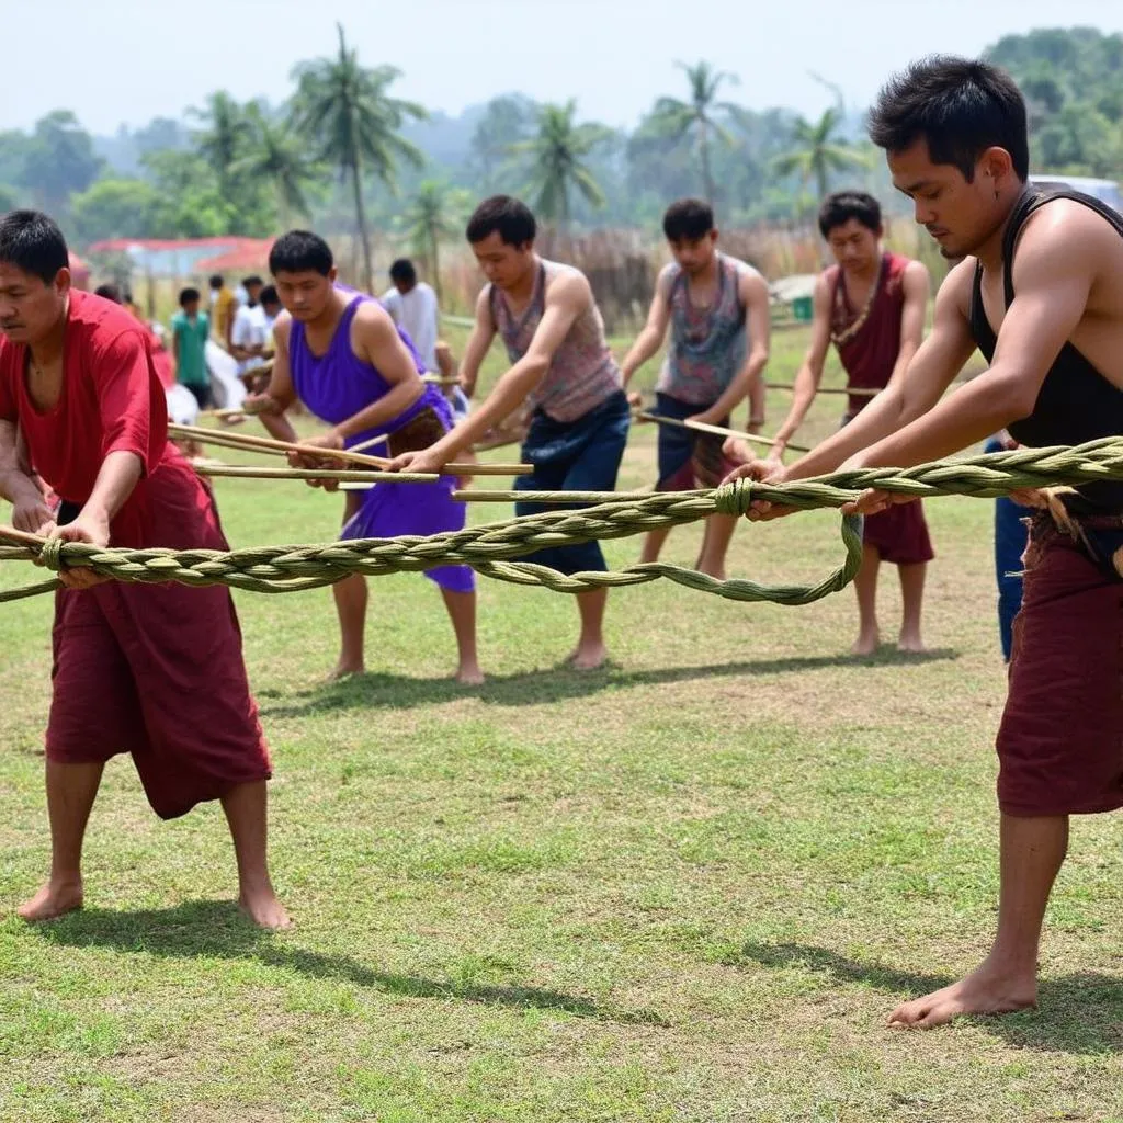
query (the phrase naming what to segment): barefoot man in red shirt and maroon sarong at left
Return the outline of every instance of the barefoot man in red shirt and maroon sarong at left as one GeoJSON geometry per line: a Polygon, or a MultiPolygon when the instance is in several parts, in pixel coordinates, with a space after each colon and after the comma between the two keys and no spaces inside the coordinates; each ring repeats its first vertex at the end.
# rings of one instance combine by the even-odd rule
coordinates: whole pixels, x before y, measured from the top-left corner
{"type": "MultiPolygon", "coordinates": [[[[0,219],[0,495],[12,522],[102,547],[227,549],[210,493],[167,441],[147,331],[73,290],[66,263],[45,214],[0,219]],[[57,511],[33,471],[61,497],[57,511]]],[[[266,865],[268,751],[229,592],[106,582],[81,568],[61,576],[46,733],[51,877],[19,914],[49,920],[82,905],[86,821],[106,761],[128,751],[161,818],[221,800],[241,909],[286,926],[266,865]]]]}

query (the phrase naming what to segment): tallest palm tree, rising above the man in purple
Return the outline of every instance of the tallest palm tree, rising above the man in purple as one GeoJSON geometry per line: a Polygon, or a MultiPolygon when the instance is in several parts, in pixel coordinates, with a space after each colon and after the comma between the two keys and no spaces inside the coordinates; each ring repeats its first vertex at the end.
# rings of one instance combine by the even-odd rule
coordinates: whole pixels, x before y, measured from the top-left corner
{"type": "Polygon", "coordinates": [[[293,70],[298,83],[293,121],[298,131],[317,146],[318,157],[334,164],[341,180],[351,181],[366,286],[373,292],[363,175],[374,172],[393,191],[399,159],[420,167],[424,157],[399,130],[407,118],[421,120],[427,115],[421,106],[386,93],[400,71],[393,66],[362,66],[357,53],[347,46],[343,25],[336,27],[339,30],[336,57],[299,63],[293,70]]]}

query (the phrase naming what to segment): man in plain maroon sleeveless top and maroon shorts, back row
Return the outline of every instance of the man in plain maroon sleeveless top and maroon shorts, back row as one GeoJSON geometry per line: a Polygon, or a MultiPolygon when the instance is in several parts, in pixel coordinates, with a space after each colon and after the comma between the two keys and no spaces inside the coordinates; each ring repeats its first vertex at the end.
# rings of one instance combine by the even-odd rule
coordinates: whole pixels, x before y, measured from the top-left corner
{"type": "MultiPolygon", "coordinates": [[[[864,191],[829,195],[819,211],[819,229],[836,265],[815,282],[811,346],[795,376],[787,418],[776,433],[773,455],[779,459],[803,423],[823,377],[827,350],[833,343],[851,390],[884,390],[904,377],[924,335],[928,270],[920,262],[882,248],[882,208],[864,191]]],[[[851,394],[843,424],[869,404],[851,394]]],[[[923,651],[920,620],[928,563],[935,556],[920,503],[893,506],[865,521],[865,551],[855,578],[858,638],[855,655],[873,655],[880,643],[877,623],[877,574],[883,562],[901,578],[902,651],[923,651]]]]}

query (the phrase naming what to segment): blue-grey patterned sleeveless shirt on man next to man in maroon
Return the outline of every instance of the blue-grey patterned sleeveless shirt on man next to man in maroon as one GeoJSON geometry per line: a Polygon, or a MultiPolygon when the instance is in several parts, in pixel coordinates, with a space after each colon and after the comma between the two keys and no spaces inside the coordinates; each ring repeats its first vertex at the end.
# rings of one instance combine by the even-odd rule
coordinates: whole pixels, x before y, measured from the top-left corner
{"type": "Polygon", "coordinates": [[[748,354],[746,308],[740,279],[755,274],[751,265],[718,254],[718,295],[705,308],[691,301],[686,273],[668,265],[660,279],[667,284],[670,308],[670,346],[656,390],[692,405],[712,405],[745,365],[748,354]]]}

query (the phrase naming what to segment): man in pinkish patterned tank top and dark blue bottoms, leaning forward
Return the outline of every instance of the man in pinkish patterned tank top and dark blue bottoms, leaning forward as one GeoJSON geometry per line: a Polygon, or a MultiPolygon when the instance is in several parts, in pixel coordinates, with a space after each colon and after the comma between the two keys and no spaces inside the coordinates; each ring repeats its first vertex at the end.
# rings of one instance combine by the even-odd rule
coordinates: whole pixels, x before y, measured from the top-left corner
{"type": "MultiPolygon", "coordinates": [[[[511,368],[487,400],[430,448],[394,459],[398,471],[436,472],[524,402],[531,414],[522,459],[531,475],[519,491],[612,491],[628,440],[630,411],[620,368],[604,338],[604,322],[588,281],[578,270],[535,253],[535,216],[518,199],[496,195],[476,208],[467,238],[487,284],[476,301],[460,377],[471,396],[496,335],[511,368]]],[[[554,506],[553,510],[557,510],[554,506]]],[[[546,510],[515,504],[518,514],[546,510]]],[[[599,542],[531,554],[523,562],[573,574],[608,568],[599,542]]],[[[581,636],[569,663],[579,670],[608,658],[603,622],[606,590],[577,594],[581,636]]]]}

